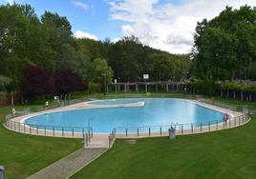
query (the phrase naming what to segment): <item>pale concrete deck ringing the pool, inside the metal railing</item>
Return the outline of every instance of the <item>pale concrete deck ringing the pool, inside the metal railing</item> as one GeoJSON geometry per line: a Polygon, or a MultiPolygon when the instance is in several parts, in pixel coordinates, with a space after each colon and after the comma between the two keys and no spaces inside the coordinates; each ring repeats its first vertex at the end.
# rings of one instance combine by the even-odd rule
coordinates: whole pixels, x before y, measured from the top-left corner
{"type": "MultiPolygon", "coordinates": [[[[145,98],[140,98],[145,99],[145,98]]],[[[146,98],[149,99],[149,98],[146,98]]],[[[190,103],[194,103],[197,105],[200,105],[202,107],[208,108],[208,109],[214,109],[217,111],[221,111],[224,113],[227,113],[231,116],[231,119],[228,120],[227,123],[224,124],[224,122],[217,122],[216,124],[210,124],[209,126],[203,126],[202,128],[195,128],[192,129],[181,129],[181,126],[178,126],[177,129],[177,135],[183,135],[183,134],[192,134],[192,133],[203,133],[207,131],[214,131],[214,130],[219,130],[219,129],[230,129],[230,128],[235,128],[238,126],[241,126],[245,124],[245,122],[248,122],[243,118],[243,113],[242,112],[236,112],[232,111],[230,109],[223,109],[220,107],[216,107],[213,105],[205,104],[203,102],[197,101],[197,100],[189,100],[189,99],[181,99],[185,100],[190,103]],[[241,116],[241,117],[239,117],[241,116]],[[237,120],[237,118],[239,119],[237,120]],[[234,120],[236,119],[236,120],[234,120]],[[179,129],[180,128],[180,129],[179,129]]],[[[97,100],[99,101],[99,100],[97,100]]],[[[102,101],[102,100],[100,100],[102,101]]],[[[106,100],[104,100],[106,101],[106,100]]],[[[92,101],[91,101],[92,102],[92,101]]],[[[27,134],[34,134],[34,135],[42,135],[42,136],[52,136],[52,137],[73,137],[73,138],[84,138],[84,133],[81,132],[71,132],[71,131],[59,131],[59,130],[52,130],[52,129],[36,129],[32,128],[30,126],[25,125],[25,121],[33,116],[36,115],[41,115],[41,114],[46,114],[46,113],[51,113],[51,112],[58,112],[58,111],[64,111],[64,110],[75,110],[75,109],[100,109],[100,108],[126,108],[126,107],[143,107],[144,103],[143,102],[137,102],[137,103],[129,103],[129,104],[118,104],[118,105],[99,105],[99,104],[90,104],[91,102],[82,102],[82,103],[77,103],[75,105],[70,105],[66,107],[61,107],[57,109],[48,109],[40,112],[34,112],[28,115],[24,116],[19,116],[16,118],[13,118],[10,120],[9,123],[14,123],[14,126],[12,124],[11,128],[12,129],[21,133],[27,133],[27,134]]],[[[95,101],[94,101],[95,102],[95,101]]],[[[244,116],[245,117],[245,116],[244,116]]],[[[110,131],[111,132],[111,131],[110,131]]],[[[91,139],[89,145],[87,146],[88,148],[108,148],[109,147],[109,134],[110,133],[94,133],[93,139],[91,139]]],[[[119,133],[117,134],[117,138],[139,138],[139,137],[154,137],[154,136],[168,136],[168,132],[163,131],[163,132],[130,132],[128,135],[125,133],[119,133]]]]}

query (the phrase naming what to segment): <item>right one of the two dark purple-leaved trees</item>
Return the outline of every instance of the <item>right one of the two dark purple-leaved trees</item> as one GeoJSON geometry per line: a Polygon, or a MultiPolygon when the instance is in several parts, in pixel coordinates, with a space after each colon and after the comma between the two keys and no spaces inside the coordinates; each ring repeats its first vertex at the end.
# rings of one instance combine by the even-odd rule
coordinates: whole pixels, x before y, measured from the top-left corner
{"type": "Polygon", "coordinates": [[[55,75],[55,87],[59,94],[66,94],[73,91],[85,89],[82,77],[72,70],[64,70],[55,75]]]}

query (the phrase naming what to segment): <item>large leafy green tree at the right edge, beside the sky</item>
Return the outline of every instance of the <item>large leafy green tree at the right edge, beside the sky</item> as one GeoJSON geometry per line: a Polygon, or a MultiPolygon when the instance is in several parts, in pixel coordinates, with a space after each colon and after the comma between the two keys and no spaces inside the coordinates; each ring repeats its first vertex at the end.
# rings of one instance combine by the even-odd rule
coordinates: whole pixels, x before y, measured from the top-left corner
{"type": "Polygon", "coordinates": [[[214,19],[198,23],[195,66],[202,78],[235,79],[256,59],[256,10],[226,7],[214,19]],[[206,74],[206,75],[205,75],[206,74]]]}

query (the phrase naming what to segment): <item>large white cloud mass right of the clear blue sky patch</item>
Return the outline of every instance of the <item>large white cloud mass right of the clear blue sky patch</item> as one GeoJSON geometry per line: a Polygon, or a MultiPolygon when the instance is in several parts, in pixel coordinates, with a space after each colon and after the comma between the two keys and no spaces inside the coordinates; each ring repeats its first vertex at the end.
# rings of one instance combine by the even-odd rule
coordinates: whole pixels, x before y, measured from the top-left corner
{"type": "Polygon", "coordinates": [[[198,21],[217,16],[225,6],[255,6],[255,0],[186,0],[180,5],[159,1],[107,0],[110,19],[126,23],[121,27],[124,36],[135,35],[153,48],[184,53],[193,47],[198,21]]]}

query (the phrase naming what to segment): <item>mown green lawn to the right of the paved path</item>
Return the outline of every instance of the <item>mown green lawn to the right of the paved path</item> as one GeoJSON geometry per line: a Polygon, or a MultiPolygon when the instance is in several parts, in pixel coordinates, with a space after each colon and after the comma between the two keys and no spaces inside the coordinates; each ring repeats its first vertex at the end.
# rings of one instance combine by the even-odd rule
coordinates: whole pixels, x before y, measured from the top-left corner
{"type": "Polygon", "coordinates": [[[204,134],[117,140],[73,178],[256,178],[256,115],[243,127],[204,134]]]}

